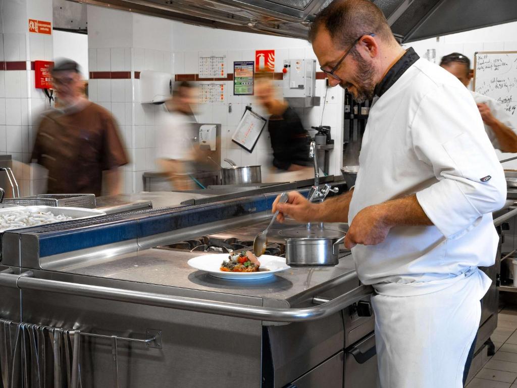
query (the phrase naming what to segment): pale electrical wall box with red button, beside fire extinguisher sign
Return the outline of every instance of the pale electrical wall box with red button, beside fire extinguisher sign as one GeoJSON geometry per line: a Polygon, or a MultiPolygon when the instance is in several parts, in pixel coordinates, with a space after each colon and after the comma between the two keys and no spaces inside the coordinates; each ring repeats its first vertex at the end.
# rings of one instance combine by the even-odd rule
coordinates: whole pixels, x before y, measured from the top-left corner
{"type": "Polygon", "coordinates": [[[284,59],[283,95],[285,98],[314,97],[315,59],[284,59]]]}

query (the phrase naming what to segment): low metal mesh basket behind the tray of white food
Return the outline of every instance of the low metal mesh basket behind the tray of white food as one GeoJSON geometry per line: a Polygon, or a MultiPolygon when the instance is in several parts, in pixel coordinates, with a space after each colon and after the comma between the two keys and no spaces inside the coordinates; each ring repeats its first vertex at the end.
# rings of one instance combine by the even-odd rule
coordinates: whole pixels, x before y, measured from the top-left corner
{"type": "Polygon", "coordinates": [[[94,194],[41,194],[31,197],[6,198],[5,203],[22,206],[96,207],[94,194]]]}

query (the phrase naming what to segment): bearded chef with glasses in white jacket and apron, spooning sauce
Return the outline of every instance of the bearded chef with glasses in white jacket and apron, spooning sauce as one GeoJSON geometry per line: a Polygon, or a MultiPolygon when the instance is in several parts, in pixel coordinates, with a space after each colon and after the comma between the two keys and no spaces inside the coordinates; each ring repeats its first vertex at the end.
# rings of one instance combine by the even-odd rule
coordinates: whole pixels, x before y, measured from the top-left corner
{"type": "Polygon", "coordinates": [[[506,182],[476,103],[449,72],[394,39],[368,0],[336,0],[311,26],[330,85],[378,99],[355,189],[322,204],[291,192],[279,220],[349,223],[360,280],[372,285],[382,388],[460,388],[498,236],[506,182]]]}

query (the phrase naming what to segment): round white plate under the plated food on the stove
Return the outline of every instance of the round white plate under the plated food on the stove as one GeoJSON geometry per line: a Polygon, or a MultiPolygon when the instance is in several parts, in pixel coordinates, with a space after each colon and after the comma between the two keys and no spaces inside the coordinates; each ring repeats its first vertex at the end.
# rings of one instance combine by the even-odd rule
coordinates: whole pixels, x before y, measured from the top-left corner
{"type": "Polygon", "coordinates": [[[283,257],[262,255],[258,258],[260,261],[260,271],[258,272],[224,272],[219,268],[223,260],[227,260],[228,253],[218,253],[217,255],[203,255],[197,256],[188,261],[188,264],[196,268],[196,270],[206,271],[210,275],[220,277],[223,279],[240,279],[240,280],[251,280],[251,279],[262,279],[265,277],[273,276],[276,272],[285,271],[291,268],[285,264],[283,257]],[[263,270],[269,271],[263,271],[263,270]]]}

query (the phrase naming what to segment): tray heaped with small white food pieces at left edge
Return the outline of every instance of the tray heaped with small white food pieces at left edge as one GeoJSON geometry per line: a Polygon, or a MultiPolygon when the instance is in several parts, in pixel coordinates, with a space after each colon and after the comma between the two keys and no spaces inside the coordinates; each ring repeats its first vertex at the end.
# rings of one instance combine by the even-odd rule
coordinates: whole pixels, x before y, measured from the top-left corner
{"type": "Polygon", "coordinates": [[[16,206],[0,208],[0,232],[50,223],[105,215],[105,212],[79,207],[16,206]]]}

